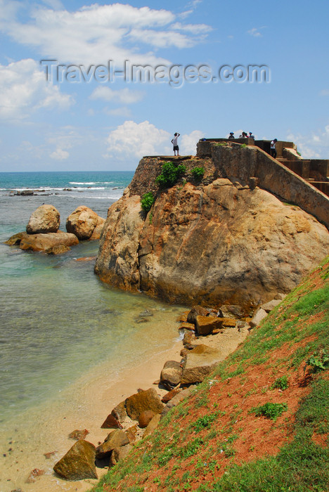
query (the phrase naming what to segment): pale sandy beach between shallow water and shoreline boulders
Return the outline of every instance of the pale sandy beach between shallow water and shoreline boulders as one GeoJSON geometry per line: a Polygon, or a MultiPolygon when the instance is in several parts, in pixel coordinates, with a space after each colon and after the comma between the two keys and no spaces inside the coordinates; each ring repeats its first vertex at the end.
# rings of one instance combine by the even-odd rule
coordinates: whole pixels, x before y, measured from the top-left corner
{"type": "MultiPolygon", "coordinates": [[[[247,336],[247,329],[240,331],[236,328],[226,330],[219,335],[210,335],[198,339],[197,343],[204,343],[221,350],[224,359],[238,347],[247,336]]],[[[106,377],[106,363],[97,372],[84,376],[74,384],[74,388],[67,389],[54,401],[51,411],[46,413],[42,409],[35,410],[34,432],[31,435],[25,430],[24,418],[15,422],[13,435],[1,437],[1,448],[7,448],[6,457],[1,458],[1,492],[16,490],[55,492],[55,491],[86,491],[96,480],[65,481],[55,476],[53,465],[60,459],[75,441],[68,438],[68,434],[75,429],[88,429],[86,440],[98,445],[103,442],[110,429],[101,429],[105,417],[118,403],[139,388],[155,387],[158,394],[166,393],[164,389],[153,385],[159,379],[163,365],[168,360],[180,361],[180,351],[183,347],[181,340],[167,350],[157,351],[143,363],[129,367],[121,373],[106,377]],[[4,441],[3,441],[4,439],[4,441]],[[55,453],[46,459],[45,453],[55,453]],[[35,468],[44,470],[44,474],[34,481],[26,483],[30,472],[35,468]]],[[[97,469],[98,477],[107,470],[97,469]]]]}

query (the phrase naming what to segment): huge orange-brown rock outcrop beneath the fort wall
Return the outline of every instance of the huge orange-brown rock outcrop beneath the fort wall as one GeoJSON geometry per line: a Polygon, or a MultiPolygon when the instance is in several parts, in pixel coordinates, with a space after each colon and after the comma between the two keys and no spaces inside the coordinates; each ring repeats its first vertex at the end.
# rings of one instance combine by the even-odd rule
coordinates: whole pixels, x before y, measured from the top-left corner
{"type": "Polygon", "coordinates": [[[168,302],[247,307],[289,292],[328,254],[328,230],[313,216],[215,171],[209,160],[202,185],[157,193],[148,216],[131,194],[146,190],[146,178],[134,179],[108,211],[95,268],[101,279],[168,302]]]}

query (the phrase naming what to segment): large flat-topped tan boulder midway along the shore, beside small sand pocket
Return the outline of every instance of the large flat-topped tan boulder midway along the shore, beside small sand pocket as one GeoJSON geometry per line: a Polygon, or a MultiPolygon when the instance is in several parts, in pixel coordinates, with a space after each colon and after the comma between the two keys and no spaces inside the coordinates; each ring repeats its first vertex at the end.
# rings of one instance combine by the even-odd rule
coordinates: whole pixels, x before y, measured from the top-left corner
{"type": "Polygon", "coordinates": [[[205,349],[205,346],[202,348],[196,347],[186,354],[181,384],[202,382],[222,360],[223,356],[219,350],[212,347],[205,349]]]}

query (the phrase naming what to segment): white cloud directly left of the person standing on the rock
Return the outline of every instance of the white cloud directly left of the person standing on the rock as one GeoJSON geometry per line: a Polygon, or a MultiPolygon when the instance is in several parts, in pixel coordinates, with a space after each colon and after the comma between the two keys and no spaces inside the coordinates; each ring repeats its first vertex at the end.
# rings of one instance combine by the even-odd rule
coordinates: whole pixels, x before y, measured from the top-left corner
{"type": "Polygon", "coordinates": [[[167,143],[170,135],[167,131],[157,129],[148,121],[135,123],[124,122],[108,136],[108,153],[110,156],[141,158],[143,155],[158,155],[169,151],[167,143]]]}

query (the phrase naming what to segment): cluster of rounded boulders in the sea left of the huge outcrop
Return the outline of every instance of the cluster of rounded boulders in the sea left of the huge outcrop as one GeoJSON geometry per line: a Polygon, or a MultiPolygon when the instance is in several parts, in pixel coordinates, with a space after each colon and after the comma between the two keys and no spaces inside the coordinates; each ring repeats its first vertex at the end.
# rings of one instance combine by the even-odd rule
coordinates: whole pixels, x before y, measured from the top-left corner
{"type": "Polygon", "coordinates": [[[67,232],[59,231],[60,214],[53,205],[41,205],[32,215],[26,233],[18,233],[6,241],[7,245],[19,245],[21,250],[46,254],[62,254],[77,245],[79,239],[99,239],[105,219],[88,207],[78,207],[67,219],[67,232]],[[74,219],[70,219],[70,217],[74,219]]]}

